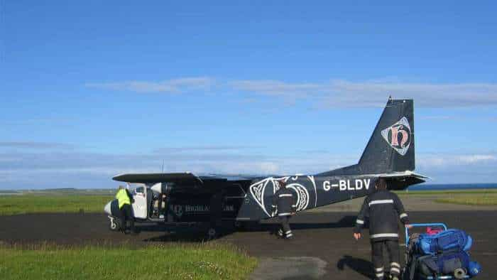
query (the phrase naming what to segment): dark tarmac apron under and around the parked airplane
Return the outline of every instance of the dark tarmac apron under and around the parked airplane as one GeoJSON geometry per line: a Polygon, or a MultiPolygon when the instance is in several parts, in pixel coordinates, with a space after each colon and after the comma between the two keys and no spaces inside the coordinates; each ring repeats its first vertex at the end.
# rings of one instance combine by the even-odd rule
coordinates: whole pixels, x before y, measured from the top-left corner
{"type": "MultiPolygon", "coordinates": [[[[495,279],[497,275],[497,211],[422,211],[410,212],[412,222],[445,222],[474,238],[471,257],[483,267],[476,279],[495,279]]],[[[243,232],[226,232],[212,242],[229,242],[260,258],[253,279],[271,271],[271,279],[370,279],[370,244],[368,231],[356,242],[352,227],[356,212],[304,212],[291,220],[295,238],[277,239],[272,231],[276,220],[267,220],[243,232]],[[266,270],[264,270],[266,269],[266,270]],[[278,273],[280,271],[280,273],[278,273]],[[290,273],[288,271],[294,271],[290,273]]],[[[164,227],[142,226],[138,236],[108,230],[106,215],[37,214],[0,216],[0,244],[61,245],[131,244],[149,242],[201,242],[203,232],[179,229],[168,232],[164,227]]],[[[400,239],[403,244],[403,239],[400,239]]],[[[403,256],[401,256],[403,260],[403,256]]]]}

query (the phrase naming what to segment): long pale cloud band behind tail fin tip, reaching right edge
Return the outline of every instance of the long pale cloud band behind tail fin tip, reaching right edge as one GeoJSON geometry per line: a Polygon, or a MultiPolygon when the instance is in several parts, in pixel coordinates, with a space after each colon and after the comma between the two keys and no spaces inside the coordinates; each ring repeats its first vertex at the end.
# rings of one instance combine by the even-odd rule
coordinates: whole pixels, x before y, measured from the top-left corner
{"type": "Polygon", "coordinates": [[[386,98],[415,99],[421,107],[472,107],[497,105],[497,84],[413,83],[331,80],[322,83],[288,83],[278,80],[229,82],[236,90],[293,99],[312,98],[320,107],[382,107],[386,98]]]}

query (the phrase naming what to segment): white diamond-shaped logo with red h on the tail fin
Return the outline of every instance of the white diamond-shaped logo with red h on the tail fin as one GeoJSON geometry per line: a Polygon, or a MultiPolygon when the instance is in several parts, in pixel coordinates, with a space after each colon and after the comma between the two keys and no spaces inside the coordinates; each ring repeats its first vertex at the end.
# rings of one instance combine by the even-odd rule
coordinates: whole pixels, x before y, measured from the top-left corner
{"type": "Polygon", "coordinates": [[[412,138],[408,119],[402,117],[395,124],[383,129],[381,136],[398,154],[404,156],[409,150],[412,138]]]}

